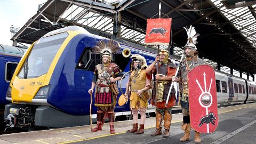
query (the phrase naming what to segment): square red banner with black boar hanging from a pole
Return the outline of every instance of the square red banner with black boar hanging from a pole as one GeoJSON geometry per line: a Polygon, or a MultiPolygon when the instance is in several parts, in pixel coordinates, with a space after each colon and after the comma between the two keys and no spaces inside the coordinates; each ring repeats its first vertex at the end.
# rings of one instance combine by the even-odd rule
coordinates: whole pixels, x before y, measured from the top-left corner
{"type": "Polygon", "coordinates": [[[147,45],[169,45],[172,19],[147,19],[145,43],[147,45]]]}

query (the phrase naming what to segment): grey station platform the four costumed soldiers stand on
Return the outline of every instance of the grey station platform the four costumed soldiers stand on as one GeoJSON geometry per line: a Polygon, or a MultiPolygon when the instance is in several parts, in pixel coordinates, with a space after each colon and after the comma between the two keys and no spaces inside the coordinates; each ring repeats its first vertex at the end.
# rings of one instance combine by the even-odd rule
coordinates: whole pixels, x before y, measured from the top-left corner
{"type": "MultiPolygon", "coordinates": [[[[217,130],[201,134],[202,143],[255,143],[256,103],[221,107],[218,114],[217,130]]],[[[109,133],[109,124],[105,123],[100,132],[91,132],[90,125],[66,127],[0,135],[0,143],[194,143],[194,131],[191,131],[190,141],[179,141],[183,136],[182,114],[172,115],[169,138],[150,136],[155,131],[155,122],[155,117],[147,118],[145,133],[138,135],[126,133],[132,127],[132,120],[129,120],[115,122],[115,134],[109,133]]]]}

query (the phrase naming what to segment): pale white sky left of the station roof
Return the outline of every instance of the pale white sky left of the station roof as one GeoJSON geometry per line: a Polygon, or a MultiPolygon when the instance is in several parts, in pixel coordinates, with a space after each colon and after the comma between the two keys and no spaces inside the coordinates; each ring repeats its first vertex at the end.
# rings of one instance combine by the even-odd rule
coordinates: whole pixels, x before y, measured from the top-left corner
{"type": "Polygon", "coordinates": [[[10,27],[21,28],[37,13],[38,5],[46,0],[2,0],[0,1],[0,44],[12,45],[10,27]]]}

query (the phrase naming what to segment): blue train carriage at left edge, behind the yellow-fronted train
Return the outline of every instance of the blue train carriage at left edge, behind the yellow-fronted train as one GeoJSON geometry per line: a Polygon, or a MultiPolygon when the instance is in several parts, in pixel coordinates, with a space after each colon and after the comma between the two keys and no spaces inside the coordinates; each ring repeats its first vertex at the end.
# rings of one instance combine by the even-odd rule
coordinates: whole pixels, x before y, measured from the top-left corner
{"type": "Polygon", "coordinates": [[[26,49],[15,46],[8,46],[0,44],[0,108],[9,103],[5,99],[6,91],[10,85],[13,73],[26,49]]]}

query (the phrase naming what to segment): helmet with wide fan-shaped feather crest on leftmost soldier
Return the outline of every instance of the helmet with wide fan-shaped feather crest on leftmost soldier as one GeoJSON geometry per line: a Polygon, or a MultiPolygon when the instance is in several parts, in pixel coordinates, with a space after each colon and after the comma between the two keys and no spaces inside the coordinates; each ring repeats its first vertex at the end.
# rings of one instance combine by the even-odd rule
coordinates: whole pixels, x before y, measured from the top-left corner
{"type": "Polygon", "coordinates": [[[116,43],[114,40],[110,39],[109,41],[99,41],[97,44],[94,45],[92,49],[93,54],[101,54],[101,57],[107,56],[108,61],[110,63],[112,59],[113,53],[120,53],[120,45],[116,43]]]}

